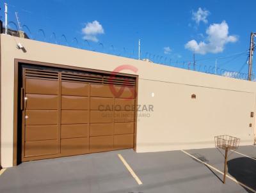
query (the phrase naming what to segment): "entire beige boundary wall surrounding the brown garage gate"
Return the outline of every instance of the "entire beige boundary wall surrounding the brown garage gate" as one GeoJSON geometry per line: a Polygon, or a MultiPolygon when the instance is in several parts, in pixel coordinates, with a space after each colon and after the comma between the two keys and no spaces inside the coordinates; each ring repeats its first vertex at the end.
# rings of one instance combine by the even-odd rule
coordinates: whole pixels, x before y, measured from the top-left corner
{"type": "Polygon", "coordinates": [[[120,65],[136,66],[138,104],[154,105],[154,112],[146,112],[148,117],[143,117],[145,111],[138,113],[138,152],[209,148],[214,146],[214,135],[221,134],[240,137],[241,144],[253,144],[255,124],[250,112],[255,112],[255,82],[1,35],[3,167],[11,167],[13,161],[15,58],[108,71],[120,65]],[[16,48],[18,42],[26,53],[16,48]],[[191,99],[193,93],[196,99],[191,99]]]}

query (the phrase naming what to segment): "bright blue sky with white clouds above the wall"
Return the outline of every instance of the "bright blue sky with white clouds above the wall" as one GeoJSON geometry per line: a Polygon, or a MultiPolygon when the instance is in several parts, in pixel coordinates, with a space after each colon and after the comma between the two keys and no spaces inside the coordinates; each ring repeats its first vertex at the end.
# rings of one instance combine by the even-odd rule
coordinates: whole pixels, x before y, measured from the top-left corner
{"type": "MultiPolygon", "coordinates": [[[[36,40],[138,58],[140,39],[142,58],[169,65],[193,61],[195,52],[196,64],[246,72],[256,31],[255,0],[5,2],[9,27],[18,12],[22,30],[36,40]]],[[[0,7],[4,20],[3,1],[0,7]]]]}

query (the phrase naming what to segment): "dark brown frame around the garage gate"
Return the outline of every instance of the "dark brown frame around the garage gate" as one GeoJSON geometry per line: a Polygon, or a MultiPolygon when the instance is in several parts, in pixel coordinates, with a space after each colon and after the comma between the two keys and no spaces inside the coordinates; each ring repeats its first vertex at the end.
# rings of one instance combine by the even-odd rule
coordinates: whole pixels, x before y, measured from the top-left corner
{"type": "MultiPolygon", "coordinates": [[[[19,79],[21,73],[19,72],[19,68],[21,64],[28,64],[34,66],[45,66],[49,68],[62,68],[62,69],[69,69],[69,70],[79,70],[79,71],[86,71],[86,72],[96,72],[96,73],[106,73],[111,74],[112,72],[106,70],[95,70],[91,68],[82,68],[76,66],[67,66],[67,65],[58,65],[53,63],[44,63],[40,61],[30,61],[26,59],[14,59],[14,102],[13,102],[13,166],[17,166],[20,162],[20,155],[18,155],[19,148],[21,148],[18,144],[18,118],[20,116],[19,111],[19,79]]],[[[1,65],[1,64],[0,64],[1,65]]],[[[138,104],[138,75],[132,75],[127,73],[115,73],[116,75],[122,75],[126,77],[134,77],[136,78],[136,96],[135,96],[135,120],[134,120],[134,151],[136,151],[136,136],[137,136],[137,104],[138,104]]],[[[1,112],[0,112],[1,113],[1,112]]],[[[1,120],[0,120],[1,121],[1,120]]]]}

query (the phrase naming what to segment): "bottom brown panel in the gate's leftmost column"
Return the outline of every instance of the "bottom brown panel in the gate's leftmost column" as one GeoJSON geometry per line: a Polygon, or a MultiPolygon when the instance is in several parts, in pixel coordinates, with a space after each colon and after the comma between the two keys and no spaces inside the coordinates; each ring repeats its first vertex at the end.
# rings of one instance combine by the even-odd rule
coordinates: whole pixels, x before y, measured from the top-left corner
{"type": "Polygon", "coordinates": [[[28,141],[25,143],[25,157],[57,154],[58,140],[28,141]]]}

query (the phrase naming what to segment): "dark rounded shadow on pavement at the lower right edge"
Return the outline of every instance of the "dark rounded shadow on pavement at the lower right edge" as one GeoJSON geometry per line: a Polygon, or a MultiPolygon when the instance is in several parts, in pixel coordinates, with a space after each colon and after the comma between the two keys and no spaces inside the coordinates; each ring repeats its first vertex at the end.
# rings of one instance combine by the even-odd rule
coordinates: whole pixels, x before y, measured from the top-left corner
{"type": "MultiPolygon", "coordinates": [[[[248,157],[239,157],[227,162],[228,173],[237,181],[256,190],[256,161],[248,157]]],[[[245,188],[244,188],[245,189],[245,188]]],[[[247,192],[252,192],[246,189],[247,192]]]]}

